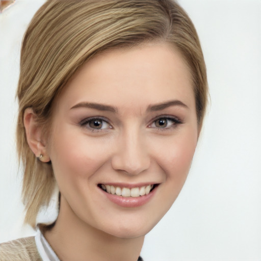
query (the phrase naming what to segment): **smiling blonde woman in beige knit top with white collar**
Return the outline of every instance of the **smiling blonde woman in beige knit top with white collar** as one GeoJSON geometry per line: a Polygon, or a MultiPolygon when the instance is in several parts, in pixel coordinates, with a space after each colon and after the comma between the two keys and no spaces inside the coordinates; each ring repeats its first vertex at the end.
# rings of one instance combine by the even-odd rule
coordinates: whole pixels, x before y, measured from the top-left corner
{"type": "Polygon", "coordinates": [[[17,148],[25,222],[56,185],[59,215],[0,260],[137,260],[178,196],[207,82],[188,15],[171,0],[47,1],[24,35],[17,148]]]}

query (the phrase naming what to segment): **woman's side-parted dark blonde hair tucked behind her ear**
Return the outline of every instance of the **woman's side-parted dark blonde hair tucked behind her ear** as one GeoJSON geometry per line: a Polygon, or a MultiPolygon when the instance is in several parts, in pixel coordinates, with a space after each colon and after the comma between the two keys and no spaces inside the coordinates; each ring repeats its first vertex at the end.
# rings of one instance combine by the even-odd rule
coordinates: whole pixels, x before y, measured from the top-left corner
{"type": "Polygon", "coordinates": [[[207,103],[203,54],[192,21],[176,2],[48,0],[37,11],[23,38],[17,89],[17,150],[24,167],[25,223],[35,226],[56,181],[51,165],[37,161],[28,146],[24,110],[32,108],[47,131],[52,102],[77,69],[108,49],[151,41],[172,44],[188,63],[201,126],[207,103]]]}

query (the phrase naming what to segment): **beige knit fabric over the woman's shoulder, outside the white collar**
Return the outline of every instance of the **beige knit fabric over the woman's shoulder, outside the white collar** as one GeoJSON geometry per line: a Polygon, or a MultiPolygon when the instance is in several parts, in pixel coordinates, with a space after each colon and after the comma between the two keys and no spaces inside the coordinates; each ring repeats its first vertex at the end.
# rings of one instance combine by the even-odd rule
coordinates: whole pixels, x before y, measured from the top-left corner
{"type": "Polygon", "coordinates": [[[35,238],[21,238],[0,244],[0,261],[42,261],[35,238]]]}

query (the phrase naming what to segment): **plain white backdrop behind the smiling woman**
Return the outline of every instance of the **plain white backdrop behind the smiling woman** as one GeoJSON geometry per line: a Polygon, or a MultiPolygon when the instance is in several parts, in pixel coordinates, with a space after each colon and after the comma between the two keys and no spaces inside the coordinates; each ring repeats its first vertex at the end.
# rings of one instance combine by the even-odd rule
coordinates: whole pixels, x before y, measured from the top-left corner
{"type": "MultiPolygon", "coordinates": [[[[34,234],[22,226],[14,96],[22,35],[43,3],[17,0],[0,14],[0,242],[34,234]]],[[[211,102],[186,184],[146,236],[141,255],[145,261],[260,261],[261,1],[179,3],[201,40],[211,102]]]]}

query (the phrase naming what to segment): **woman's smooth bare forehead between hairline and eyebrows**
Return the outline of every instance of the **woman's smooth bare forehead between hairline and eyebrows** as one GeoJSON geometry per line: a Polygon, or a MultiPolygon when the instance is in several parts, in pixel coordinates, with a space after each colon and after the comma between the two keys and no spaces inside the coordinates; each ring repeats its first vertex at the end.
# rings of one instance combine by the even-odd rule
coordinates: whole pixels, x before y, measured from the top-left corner
{"type": "Polygon", "coordinates": [[[145,109],[170,99],[195,107],[190,70],[176,49],[154,43],[96,56],[73,75],[58,101],[67,107],[90,101],[145,109]]]}

